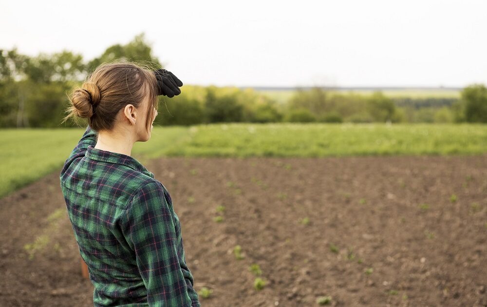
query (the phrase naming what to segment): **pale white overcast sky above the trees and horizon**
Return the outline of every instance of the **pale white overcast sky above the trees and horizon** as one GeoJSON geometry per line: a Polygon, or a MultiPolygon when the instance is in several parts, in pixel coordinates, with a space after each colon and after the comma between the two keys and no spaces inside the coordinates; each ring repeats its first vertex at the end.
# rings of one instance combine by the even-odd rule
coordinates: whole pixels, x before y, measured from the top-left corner
{"type": "Polygon", "coordinates": [[[1,11],[0,48],[91,59],[145,32],[185,84],[487,83],[482,0],[3,0],[1,11]]]}

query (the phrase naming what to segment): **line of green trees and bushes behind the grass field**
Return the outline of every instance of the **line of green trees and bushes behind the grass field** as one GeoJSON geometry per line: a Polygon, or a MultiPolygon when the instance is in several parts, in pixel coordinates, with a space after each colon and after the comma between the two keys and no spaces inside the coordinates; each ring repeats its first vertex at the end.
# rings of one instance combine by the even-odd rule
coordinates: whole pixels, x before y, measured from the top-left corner
{"type": "MultiPolygon", "coordinates": [[[[0,127],[59,127],[68,106],[67,93],[99,64],[114,58],[162,67],[144,34],[110,46],[99,57],[63,50],[29,57],[16,48],[0,49],[0,127]]],[[[160,96],[159,125],[218,122],[487,122],[487,89],[464,88],[460,99],[390,98],[336,93],[315,87],[296,89],[286,102],[252,89],[185,85],[173,98],[160,96]]],[[[70,123],[74,125],[74,123],[70,123]]]]}

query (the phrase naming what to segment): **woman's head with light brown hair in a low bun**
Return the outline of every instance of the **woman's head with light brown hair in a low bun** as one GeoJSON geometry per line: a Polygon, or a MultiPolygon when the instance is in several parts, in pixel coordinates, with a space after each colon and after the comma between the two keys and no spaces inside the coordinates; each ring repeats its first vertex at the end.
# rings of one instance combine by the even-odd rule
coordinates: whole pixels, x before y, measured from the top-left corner
{"type": "Polygon", "coordinates": [[[97,132],[128,125],[149,136],[157,115],[156,77],[149,67],[134,62],[101,64],[68,97],[71,106],[63,122],[69,117],[88,118],[97,132]]]}

